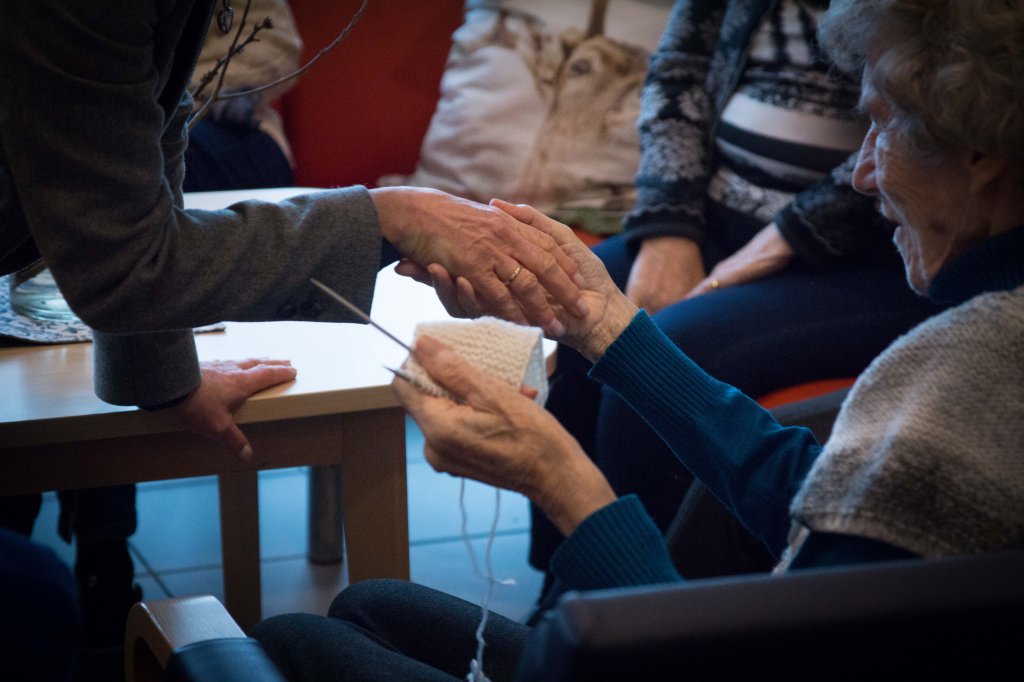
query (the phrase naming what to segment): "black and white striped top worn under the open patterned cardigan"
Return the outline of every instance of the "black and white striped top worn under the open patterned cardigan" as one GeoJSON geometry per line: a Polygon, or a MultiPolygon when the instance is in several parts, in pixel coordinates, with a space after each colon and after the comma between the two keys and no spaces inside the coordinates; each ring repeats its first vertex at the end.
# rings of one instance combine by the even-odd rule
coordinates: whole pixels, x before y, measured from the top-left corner
{"type": "Polygon", "coordinates": [[[716,131],[709,199],[760,224],[825,179],[867,130],[856,84],[829,78],[814,38],[821,4],[781,0],[765,14],[716,131]]]}

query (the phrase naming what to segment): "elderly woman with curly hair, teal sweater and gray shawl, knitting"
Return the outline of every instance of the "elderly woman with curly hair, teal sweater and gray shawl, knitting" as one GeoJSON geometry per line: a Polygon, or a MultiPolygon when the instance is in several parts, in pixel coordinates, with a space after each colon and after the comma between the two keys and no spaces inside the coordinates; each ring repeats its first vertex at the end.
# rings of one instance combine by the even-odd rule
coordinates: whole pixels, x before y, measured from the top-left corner
{"type": "MultiPolygon", "coordinates": [[[[824,447],[682,355],[564,226],[499,204],[559,241],[588,279],[590,314],[566,317],[561,340],[781,557],[779,570],[1024,547],[1021,35],[1024,0],[837,0],[822,24],[838,62],[861,73],[871,120],[854,186],[899,224],[911,288],[952,306],[871,364],[824,447]]],[[[416,357],[459,398],[394,386],[428,461],[529,496],[566,536],[552,559],[562,587],[681,580],[637,500],[616,500],[548,413],[436,341],[416,357]]],[[[256,636],[294,679],[390,667],[453,679],[478,623],[471,605],[426,588],[362,583],[330,617],[271,619],[256,636]]],[[[492,679],[511,676],[526,632],[487,621],[492,679]]]]}

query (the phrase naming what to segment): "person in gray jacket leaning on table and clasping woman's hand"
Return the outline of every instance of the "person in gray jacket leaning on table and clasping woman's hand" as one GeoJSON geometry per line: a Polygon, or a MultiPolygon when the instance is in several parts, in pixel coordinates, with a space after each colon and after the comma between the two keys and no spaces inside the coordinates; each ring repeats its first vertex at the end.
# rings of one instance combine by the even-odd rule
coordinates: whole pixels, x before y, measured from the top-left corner
{"type": "Polygon", "coordinates": [[[353,186],[183,210],[187,87],[214,11],[229,5],[0,8],[0,274],[45,259],[95,331],[99,397],[167,407],[248,455],[231,410],[293,372],[279,361],[201,373],[191,328],[359,322],[310,278],[369,309],[377,270],[399,258],[403,273],[429,281],[436,263],[473,281],[496,311],[560,329],[545,294],[574,307],[574,265],[550,238],[484,205],[353,186]]]}

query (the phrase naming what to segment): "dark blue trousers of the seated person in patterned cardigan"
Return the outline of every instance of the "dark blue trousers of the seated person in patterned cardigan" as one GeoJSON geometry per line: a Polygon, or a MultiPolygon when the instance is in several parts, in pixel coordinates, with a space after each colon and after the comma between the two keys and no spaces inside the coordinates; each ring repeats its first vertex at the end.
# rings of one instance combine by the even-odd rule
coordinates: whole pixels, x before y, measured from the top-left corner
{"type": "MultiPolygon", "coordinates": [[[[612,238],[595,251],[615,284],[625,287],[634,260],[625,240],[612,238]]],[[[713,249],[706,249],[706,259],[710,270],[717,261],[713,249]]],[[[709,374],[757,398],[803,382],[857,376],[896,337],[937,311],[907,287],[894,252],[888,262],[828,272],[792,265],[746,285],[681,301],[653,319],[709,374]]],[[[637,494],[665,530],[692,475],[614,391],[586,376],[589,369],[574,350],[559,347],[547,407],[615,492],[637,494]]],[[[700,565],[700,548],[691,548],[690,565],[678,566],[684,577],[770,568],[774,557],[728,516],[713,537],[731,548],[708,552],[718,557],[714,566],[700,565]],[[730,554],[735,557],[732,566],[730,554]]],[[[546,570],[562,537],[536,507],[531,522],[529,562],[546,570]]]]}

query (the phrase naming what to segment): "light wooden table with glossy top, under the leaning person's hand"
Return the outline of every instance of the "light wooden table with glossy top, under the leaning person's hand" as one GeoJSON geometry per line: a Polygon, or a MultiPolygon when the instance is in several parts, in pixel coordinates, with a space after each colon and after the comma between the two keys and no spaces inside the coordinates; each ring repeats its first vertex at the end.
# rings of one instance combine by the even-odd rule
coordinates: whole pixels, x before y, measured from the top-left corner
{"type": "MultiPolygon", "coordinates": [[[[205,193],[190,206],[218,208],[248,196],[275,201],[297,190],[205,193]]],[[[378,278],[372,316],[411,340],[417,322],[447,315],[428,287],[390,268],[378,278]]],[[[294,382],[238,412],[254,449],[242,462],[178,431],[159,413],[100,401],[92,344],[0,348],[0,495],[216,474],[225,605],[243,628],[260,620],[258,470],[340,465],[350,582],[409,578],[404,415],[384,366],[406,351],[365,325],[230,323],[196,337],[201,359],[291,359],[294,382]]]]}

